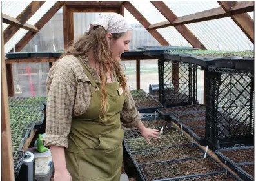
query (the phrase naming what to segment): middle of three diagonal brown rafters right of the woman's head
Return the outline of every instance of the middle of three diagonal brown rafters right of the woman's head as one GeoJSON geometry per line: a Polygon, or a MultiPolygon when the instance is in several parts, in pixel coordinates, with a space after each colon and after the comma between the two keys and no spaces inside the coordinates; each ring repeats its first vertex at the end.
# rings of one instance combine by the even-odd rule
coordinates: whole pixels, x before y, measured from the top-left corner
{"type": "MultiPolygon", "coordinates": [[[[173,23],[177,19],[177,16],[166,6],[166,4],[162,1],[151,1],[151,3],[161,12],[162,15],[170,22],[173,23]]],[[[190,43],[194,48],[200,48],[206,50],[205,46],[193,35],[193,33],[185,26],[174,26],[174,28],[181,33],[181,35],[190,43]]]]}

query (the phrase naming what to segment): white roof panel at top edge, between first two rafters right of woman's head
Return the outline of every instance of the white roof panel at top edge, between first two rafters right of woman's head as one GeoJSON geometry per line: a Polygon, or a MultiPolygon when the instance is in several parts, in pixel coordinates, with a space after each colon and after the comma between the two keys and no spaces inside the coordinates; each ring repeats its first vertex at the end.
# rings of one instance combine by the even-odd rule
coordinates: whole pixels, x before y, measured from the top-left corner
{"type": "Polygon", "coordinates": [[[150,24],[167,21],[167,19],[150,3],[150,1],[130,1],[132,5],[148,20],[150,24]]]}

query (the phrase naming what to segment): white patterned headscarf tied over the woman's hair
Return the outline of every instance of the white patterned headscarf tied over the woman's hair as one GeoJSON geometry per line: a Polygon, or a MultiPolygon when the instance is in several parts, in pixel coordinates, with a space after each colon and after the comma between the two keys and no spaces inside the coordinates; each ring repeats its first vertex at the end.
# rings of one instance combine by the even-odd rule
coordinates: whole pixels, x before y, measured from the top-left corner
{"type": "Polygon", "coordinates": [[[122,15],[117,13],[103,15],[101,19],[97,19],[94,23],[90,24],[90,28],[93,26],[103,26],[108,33],[124,33],[132,30],[132,26],[128,21],[126,21],[122,15]]]}

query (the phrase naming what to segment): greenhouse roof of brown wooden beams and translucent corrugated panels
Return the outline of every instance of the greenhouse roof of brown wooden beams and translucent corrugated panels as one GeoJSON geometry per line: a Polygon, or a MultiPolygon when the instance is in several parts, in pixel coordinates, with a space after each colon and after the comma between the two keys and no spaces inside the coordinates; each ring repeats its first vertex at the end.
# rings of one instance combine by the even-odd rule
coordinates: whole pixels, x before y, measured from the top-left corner
{"type": "Polygon", "coordinates": [[[140,23],[161,45],[208,50],[254,46],[254,1],[2,1],[1,10],[5,53],[20,52],[58,11],[63,12],[66,46],[70,37],[74,41],[65,29],[72,27],[66,17],[97,11],[140,23]]]}

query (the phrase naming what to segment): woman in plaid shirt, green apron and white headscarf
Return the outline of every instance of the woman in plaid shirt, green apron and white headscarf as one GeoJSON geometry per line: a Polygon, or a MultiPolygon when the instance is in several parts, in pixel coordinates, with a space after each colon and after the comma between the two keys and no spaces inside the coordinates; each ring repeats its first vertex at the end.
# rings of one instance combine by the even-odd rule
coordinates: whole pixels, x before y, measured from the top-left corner
{"type": "Polygon", "coordinates": [[[128,51],[130,24],[105,15],[52,66],[47,80],[45,146],[54,160],[54,181],[119,181],[122,140],[127,128],[157,137],[145,128],[119,64],[128,51]]]}

